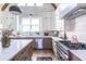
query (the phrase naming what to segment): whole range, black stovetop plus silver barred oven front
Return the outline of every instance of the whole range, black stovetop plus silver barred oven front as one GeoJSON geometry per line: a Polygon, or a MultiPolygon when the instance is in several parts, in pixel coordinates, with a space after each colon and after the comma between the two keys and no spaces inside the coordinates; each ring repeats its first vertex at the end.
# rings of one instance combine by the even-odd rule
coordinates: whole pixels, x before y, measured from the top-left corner
{"type": "Polygon", "coordinates": [[[84,43],[71,43],[70,40],[59,40],[57,42],[57,53],[58,60],[60,61],[70,61],[70,50],[85,50],[86,44],[84,43]]]}

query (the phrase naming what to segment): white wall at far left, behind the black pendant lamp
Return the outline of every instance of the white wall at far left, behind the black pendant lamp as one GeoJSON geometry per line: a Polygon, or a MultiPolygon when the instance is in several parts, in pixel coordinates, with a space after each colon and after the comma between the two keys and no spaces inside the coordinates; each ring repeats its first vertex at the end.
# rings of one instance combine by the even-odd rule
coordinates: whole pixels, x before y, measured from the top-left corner
{"type": "Polygon", "coordinates": [[[3,28],[7,28],[10,26],[10,28],[13,28],[16,30],[16,15],[11,14],[9,12],[9,8],[14,4],[9,4],[9,7],[4,11],[0,11],[0,23],[2,24],[3,28]]]}

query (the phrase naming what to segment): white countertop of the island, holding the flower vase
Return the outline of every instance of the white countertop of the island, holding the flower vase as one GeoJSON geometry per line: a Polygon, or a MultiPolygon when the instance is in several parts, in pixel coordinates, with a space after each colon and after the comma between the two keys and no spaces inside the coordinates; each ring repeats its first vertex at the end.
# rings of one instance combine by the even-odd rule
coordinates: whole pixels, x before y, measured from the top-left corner
{"type": "Polygon", "coordinates": [[[2,48],[0,42],[0,61],[11,60],[16,53],[29,44],[33,39],[12,39],[9,48],[2,48]]]}

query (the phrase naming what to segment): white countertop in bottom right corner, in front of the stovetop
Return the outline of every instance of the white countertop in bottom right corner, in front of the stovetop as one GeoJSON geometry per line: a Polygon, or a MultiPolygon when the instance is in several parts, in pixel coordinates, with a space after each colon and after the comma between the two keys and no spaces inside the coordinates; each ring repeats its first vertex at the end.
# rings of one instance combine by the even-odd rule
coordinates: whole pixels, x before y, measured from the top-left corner
{"type": "Polygon", "coordinates": [[[76,55],[82,61],[86,61],[86,50],[70,50],[70,52],[76,55]]]}

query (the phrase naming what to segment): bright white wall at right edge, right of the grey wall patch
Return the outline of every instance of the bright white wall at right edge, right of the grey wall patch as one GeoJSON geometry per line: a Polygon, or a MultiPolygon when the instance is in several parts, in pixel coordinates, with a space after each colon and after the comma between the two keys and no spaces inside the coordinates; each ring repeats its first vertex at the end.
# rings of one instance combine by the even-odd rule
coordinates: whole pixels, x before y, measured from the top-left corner
{"type": "Polygon", "coordinates": [[[86,43],[86,15],[75,18],[75,34],[81,42],[86,43]]]}

